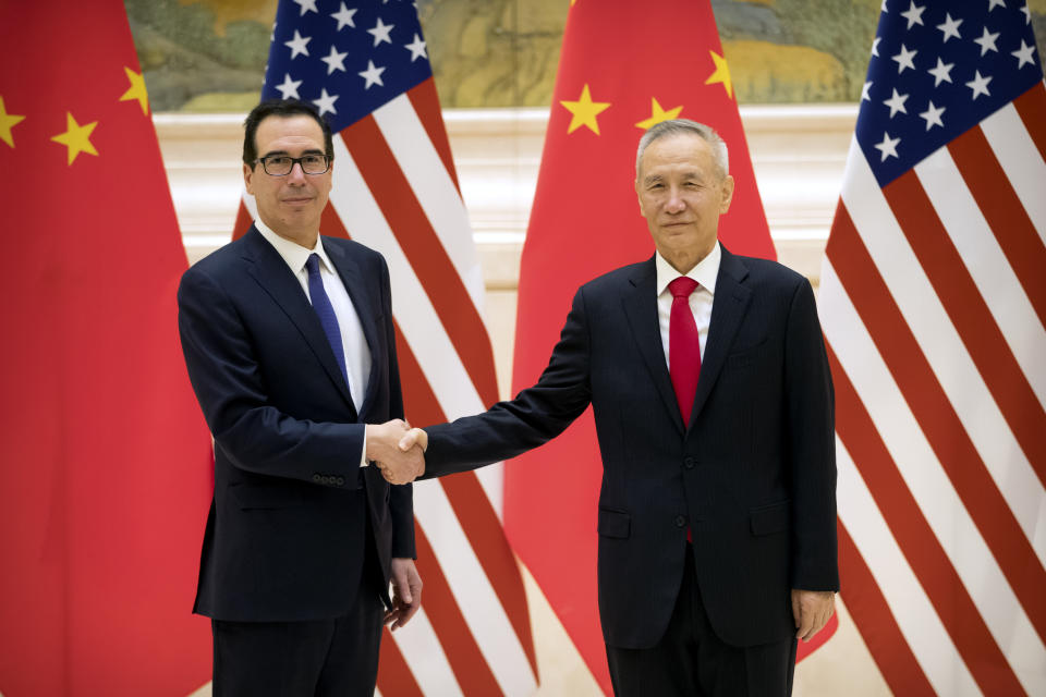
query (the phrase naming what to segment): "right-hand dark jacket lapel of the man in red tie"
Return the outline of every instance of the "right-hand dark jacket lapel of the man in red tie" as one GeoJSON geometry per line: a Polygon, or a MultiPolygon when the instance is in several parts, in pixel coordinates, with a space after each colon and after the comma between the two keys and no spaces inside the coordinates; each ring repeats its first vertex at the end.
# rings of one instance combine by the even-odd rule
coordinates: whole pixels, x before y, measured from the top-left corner
{"type": "Polygon", "coordinates": [[[730,352],[733,338],[738,333],[738,328],[741,327],[741,319],[752,297],[752,291],[742,283],[747,274],[749,270],[744,264],[722,247],[719,276],[716,277],[716,296],[711,304],[711,322],[708,327],[705,355],[701,362],[701,377],[697,379],[697,392],[694,394],[691,425],[708,400],[727,354],[730,352]]]}

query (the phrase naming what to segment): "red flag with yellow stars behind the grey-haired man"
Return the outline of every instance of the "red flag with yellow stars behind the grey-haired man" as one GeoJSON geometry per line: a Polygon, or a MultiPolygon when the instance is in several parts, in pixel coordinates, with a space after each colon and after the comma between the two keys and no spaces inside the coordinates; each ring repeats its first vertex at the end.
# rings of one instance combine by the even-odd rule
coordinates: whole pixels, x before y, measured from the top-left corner
{"type": "MultiPolygon", "coordinates": [[[[737,189],[720,240],[733,253],[776,258],[708,2],[572,2],[523,247],[513,391],[548,364],[579,285],[654,254],[633,188],[635,152],[645,129],[677,117],[713,126],[729,147],[737,189]]],[[[513,462],[504,475],[509,539],[609,694],[591,411],[518,460],[525,465],[513,462]]]]}

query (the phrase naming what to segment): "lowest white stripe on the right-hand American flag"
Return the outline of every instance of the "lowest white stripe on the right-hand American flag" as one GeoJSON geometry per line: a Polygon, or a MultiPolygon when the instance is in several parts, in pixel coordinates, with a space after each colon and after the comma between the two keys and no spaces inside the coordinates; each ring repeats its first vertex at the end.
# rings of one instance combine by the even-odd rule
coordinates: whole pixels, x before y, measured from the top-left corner
{"type": "Polygon", "coordinates": [[[872,576],[926,678],[938,695],[980,695],[966,664],[897,546],[850,453],[838,438],[836,463],[839,467],[836,486],[839,517],[868,562],[872,576]]]}

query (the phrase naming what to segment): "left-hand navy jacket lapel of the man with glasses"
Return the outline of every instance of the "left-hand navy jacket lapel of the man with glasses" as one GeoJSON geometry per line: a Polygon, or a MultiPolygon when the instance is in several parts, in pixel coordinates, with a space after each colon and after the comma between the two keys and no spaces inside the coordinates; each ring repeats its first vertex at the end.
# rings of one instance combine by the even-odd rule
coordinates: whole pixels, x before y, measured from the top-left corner
{"type": "Polygon", "coordinates": [[[355,406],[352,403],[352,395],[349,393],[349,386],[345,384],[344,376],[341,375],[341,368],[335,359],[335,352],[330,348],[330,342],[327,341],[327,334],[324,333],[324,327],[319,323],[319,317],[308,302],[302,284],[294,273],[287,266],[279,252],[272,248],[262,233],[253,225],[247,234],[244,235],[244,242],[247,245],[247,271],[254,277],[258,285],[269,294],[269,296],[279,305],[290,320],[297,327],[313,353],[324,366],[324,370],[330,379],[338,386],[338,390],[344,398],[345,403],[355,415],[355,406]]]}

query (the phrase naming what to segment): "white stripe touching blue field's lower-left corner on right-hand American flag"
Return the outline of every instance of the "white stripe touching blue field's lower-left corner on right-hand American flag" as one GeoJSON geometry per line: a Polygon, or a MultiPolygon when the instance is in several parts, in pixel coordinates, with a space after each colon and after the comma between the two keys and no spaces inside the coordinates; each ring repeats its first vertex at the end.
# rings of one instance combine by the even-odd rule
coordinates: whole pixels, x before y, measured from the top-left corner
{"type": "MultiPolygon", "coordinates": [[[[1042,496],[1042,486],[1031,470],[1027,458],[1023,457],[1013,433],[908,244],[864,155],[860,148],[855,148],[855,143],[847,160],[848,181],[842,195],[854,228],[966,432],[971,439],[976,438],[974,447],[993,480],[1013,510],[1021,529],[1035,545],[1036,555],[1044,561],[1046,539],[1035,539],[1036,527],[1041,525],[1039,499],[1035,497],[1042,496]],[[994,429],[985,429],[985,425],[994,429]],[[999,448],[1007,456],[994,456],[999,448]],[[993,456],[986,457],[987,453],[993,453],[993,456]],[[1020,457],[1023,457],[1023,466],[1027,469],[1025,474],[1014,475],[1010,468],[1010,461],[1014,458],[1009,453],[1021,453],[1014,465],[1020,467],[1020,457]]],[[[936,457],[933,462],[937,462],[936,457]]]]}

